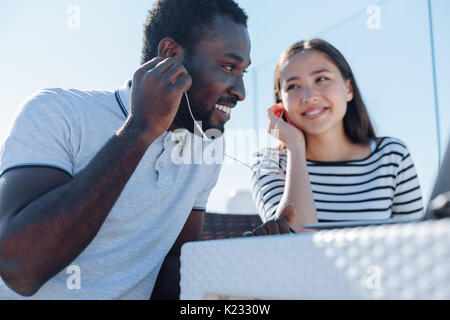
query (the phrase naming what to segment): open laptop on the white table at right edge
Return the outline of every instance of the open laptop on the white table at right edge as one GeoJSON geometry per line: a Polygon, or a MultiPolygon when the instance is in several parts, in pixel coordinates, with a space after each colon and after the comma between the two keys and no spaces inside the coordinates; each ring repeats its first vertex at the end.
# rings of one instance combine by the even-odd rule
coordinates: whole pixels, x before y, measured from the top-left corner
{"type": "MultiPolygon", "coordinates": [[[[395,223],[407,223],[407,222],[417,222],[423,220],[430,220],[440,218],[434,214],[434,209],[436,207],[435,198],[444,193],[450,191],[450,141],[447,145],[447,150],[445,152],[444,160],[442,161],[441,168],[439,169],[439,174],[434,183],[433,192],[428,202],[425,215],[421,220],[417,219],[406,219],[406,218],[391,218],[386,220],[347,220],[347,221],[330,221],[330,222],[319,222],[313,224],[304,224],[303,227],[306,229],[335,229],[335,228],[352,228],[352,227],[362,227],[370,225],[385,225],[385,224],[395,224],[395,223]]],[[[450,199],[449,199],[450,200],[450,199]]],[[[448,216],[450,217],[450,216],[448,216]]]]}

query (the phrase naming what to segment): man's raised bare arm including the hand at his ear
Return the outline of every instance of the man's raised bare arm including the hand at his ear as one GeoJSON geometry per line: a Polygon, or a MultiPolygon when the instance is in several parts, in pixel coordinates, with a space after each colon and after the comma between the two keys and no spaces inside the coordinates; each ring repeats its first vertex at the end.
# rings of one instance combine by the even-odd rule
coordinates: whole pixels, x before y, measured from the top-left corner
{"type": "Polygon", "coordinates": [[[148,147],[173,122],[190,84],[180,63],[155,58],[134,74],[124,126],[72,180],[53,171],[46,176],[42,168],[3,174],[0,275],[10,288],[33,295],[86,248],[148,147]]]}

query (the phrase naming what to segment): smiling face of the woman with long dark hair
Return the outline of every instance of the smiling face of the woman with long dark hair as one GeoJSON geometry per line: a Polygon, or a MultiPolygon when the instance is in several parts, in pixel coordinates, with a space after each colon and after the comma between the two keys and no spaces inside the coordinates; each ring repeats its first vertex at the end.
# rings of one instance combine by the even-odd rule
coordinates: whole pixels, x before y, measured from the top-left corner
{"type": "Polygon", "coordinates": [[[290,123],[306,136],[343,134],[353,89],[325,53],[307,50],[291,57],[280,69],[280,88],[290,123]]]}

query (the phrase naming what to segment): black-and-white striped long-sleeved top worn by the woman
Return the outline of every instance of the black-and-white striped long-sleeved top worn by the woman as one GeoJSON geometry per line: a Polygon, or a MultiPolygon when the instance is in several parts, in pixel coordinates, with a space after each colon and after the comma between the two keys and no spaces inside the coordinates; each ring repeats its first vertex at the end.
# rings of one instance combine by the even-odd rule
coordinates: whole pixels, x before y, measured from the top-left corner
{"type": "MultiPolygon", "coordinates": [[[[261,219],[271,219],[283,196],[286,151],[264,149],[252,162],[251,191],[261,219]]],[[[405,143],[384,137],[361,160],[307,160],[319,222],[419,219],[424,215],[414,163],[405,143]]],[[[298,208],[297,208],[298,210],[298,208]]]]}

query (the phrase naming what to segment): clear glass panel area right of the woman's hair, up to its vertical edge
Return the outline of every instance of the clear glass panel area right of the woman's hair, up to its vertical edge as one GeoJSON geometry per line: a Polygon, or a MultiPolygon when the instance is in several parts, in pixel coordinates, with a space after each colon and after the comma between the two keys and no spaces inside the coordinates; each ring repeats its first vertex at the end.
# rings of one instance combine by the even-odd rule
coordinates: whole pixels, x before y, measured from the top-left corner
{"type": "Polygon", "coordinates": [[[371,8],[319,36],[348,59],[377,134],[407,144],[427,199],[439,164],[427,1],[371,8]]]}

